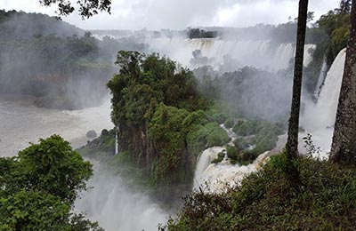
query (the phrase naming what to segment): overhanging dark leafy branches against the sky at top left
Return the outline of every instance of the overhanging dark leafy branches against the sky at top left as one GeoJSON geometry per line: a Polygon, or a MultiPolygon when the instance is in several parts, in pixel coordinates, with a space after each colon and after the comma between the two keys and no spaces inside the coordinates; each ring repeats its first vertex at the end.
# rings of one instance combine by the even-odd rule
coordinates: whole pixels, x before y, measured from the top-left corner
{"type": "MultiPolygon", "coordinates": [[[[75,8],[69,0],[39,0],[39,3],[44,6],[57,4],[57,14],[59,17],[67,16],[75,11],[75,8]]],[[[79,15],[81,15],[83,19],[92,17],[94,14],[97,14],[98,11],[110,13],[111,10],[111,0],[77,0],[77,4],[79,5],[79,15]]]]}

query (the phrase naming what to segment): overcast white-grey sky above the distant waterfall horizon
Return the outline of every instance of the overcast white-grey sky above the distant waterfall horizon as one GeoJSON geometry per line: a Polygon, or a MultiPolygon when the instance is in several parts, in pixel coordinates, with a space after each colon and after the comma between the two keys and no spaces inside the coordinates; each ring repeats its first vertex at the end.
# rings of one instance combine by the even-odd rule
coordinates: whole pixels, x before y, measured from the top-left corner
{"type": "MultiPolygon", "coordinates": [[[[39,0],[0,0],[0,9],[55,15],[55,8],[39,0]]],[[[72,1],[76,2],[76,1],[72,1]]],[[[309,11],[333,10],[340,0],[310,0],[309,11]]],[[[63,20],[84,29],[183,29],[198,26],[245,27],[278,24],[297,16],[297,0],[112,0],[111,15],[102,12],[90,20],[73,13],[63,20]]]]}

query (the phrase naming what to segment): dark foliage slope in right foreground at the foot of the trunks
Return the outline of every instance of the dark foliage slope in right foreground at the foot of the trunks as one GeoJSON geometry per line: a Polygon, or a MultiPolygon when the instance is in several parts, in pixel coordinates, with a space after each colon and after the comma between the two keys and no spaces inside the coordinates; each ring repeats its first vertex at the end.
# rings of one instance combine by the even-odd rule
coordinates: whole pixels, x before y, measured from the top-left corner
{"type": "Polygon", "coordinates": [[[285,161],[284,154],[272,157],[222,195],[187,195],[178,219],[161,230],[354,230],[354,166],[302,158],[294,184],[284,174],[285,161]]]}

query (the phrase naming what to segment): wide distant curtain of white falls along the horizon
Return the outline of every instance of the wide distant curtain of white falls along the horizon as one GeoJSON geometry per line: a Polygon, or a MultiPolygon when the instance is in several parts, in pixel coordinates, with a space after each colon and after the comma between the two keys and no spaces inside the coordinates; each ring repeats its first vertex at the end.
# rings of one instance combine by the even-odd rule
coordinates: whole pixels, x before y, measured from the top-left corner
{"type": "MultiPolygon", "coordinates": [[[[238,67],[236,69],[252,66],[271,71],[287,68],[289,60],[293,58],[295,52],[293,44],[280,44],[274,48],[269,41],[265,40],[239,41],[219,38],[160,37],[148,38],[145,42],[150,44],[151,51],[165,54],[190,68],[199,66],[190,64],[190,60],[193,58],[192,52],[196,50],[200,50],[202,56],[208,58],[206,64],[214,67],[222,64],[224,57],[229,55],[232,59],[237,60],[238,67]]],[[[315,45],[306,44],[304,49],[304,66],[307,66],[312,61],[312,51],[315,50],[315,45]]]]}

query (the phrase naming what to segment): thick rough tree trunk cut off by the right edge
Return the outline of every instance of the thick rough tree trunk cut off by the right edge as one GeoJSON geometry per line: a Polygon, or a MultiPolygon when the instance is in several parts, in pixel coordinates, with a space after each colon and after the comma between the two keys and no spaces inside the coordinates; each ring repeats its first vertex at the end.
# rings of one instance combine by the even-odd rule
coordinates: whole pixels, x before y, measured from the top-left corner
{"type": "Polygon", "coordinates": [[[352,0],[350,40],[330,160],[335,163],[356,163],[356,0],[352,0]]]}

